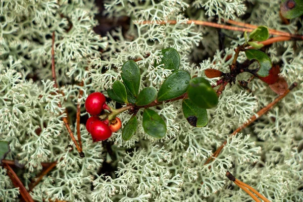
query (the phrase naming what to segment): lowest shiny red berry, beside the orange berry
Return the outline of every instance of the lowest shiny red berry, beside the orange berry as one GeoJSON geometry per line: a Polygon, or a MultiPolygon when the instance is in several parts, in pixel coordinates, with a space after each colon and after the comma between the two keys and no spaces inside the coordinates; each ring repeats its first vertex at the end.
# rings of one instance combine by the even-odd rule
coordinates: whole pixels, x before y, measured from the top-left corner
{"type": "Polygon", "coordinates": [[[90,124],[90,134],[93,142],[106,140],[112,136],[112,131],[103,121],[94,121],[90,124]]]}

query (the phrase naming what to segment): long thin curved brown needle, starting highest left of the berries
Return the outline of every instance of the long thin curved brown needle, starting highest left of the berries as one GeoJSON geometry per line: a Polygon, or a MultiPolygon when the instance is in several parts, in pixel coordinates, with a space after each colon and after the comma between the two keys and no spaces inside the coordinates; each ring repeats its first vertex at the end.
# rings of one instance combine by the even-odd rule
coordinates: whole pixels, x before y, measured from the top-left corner
{"type": "MultiPolygon", "coordinates": [[[[53,74],[53,81],[55,82],[54,86],[55,86],[55,88],[57,88],[57,92],[59,93],[59,88],[58,88],[58,83],[57,83],[57,78],[56,78],[56,69],[55,69],[55,47],[54,46],[55,46],[55,31],[53,32],[53,37],[52,37],[52,74],[53,74]]],[[[60,100],[59,100],[58,106],[60,108],[62,108],[60,100]]],[[[68,133],[70,134],[70,136],[71,136],[79,154],[80,154],[80,157],[83,157],[84,153],[80,150],[80,147],[79,147],[79,145],[78,145],[78,143],[75,139],[75,136],[74,136],[69,124],[68,124],[67,118],[62,117],[62,120],[63,120],[63,122],[65,124],[65,127],[66,127],[68,133]]]]}

